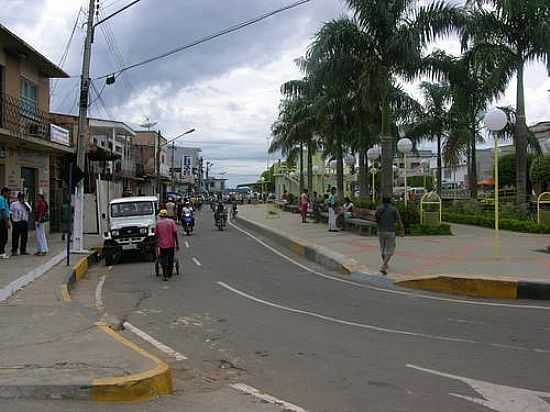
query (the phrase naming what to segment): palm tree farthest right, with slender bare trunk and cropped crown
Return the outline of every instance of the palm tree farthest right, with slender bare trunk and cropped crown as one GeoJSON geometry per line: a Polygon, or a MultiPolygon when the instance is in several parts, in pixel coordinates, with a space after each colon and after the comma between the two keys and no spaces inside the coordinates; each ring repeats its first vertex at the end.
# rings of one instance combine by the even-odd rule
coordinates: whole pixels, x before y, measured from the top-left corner
{"type": "Polygon", "coordinates": [[[516,190],[517,203],[526,207],[527,144],[529,129],[525,113],[525,65],[544,61],[550,73],[550,2],[548,0],[467,0],[470,11],[462,43],[476,59],[494,60],[508,81],[517,78],[516,97],[516,190]]]}

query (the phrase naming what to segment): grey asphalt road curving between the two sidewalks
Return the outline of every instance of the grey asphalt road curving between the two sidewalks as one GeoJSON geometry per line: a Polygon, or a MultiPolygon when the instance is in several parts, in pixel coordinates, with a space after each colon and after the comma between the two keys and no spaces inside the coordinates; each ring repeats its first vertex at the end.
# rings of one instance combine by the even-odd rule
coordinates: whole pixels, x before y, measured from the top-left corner
{"type": "MultiPolygon", "coordinates": [[[[316,412],[550,411],[549,306],[323,278],[206,211],[180,239],[179,279],[128,261],[102,294],[110,315],[189,358],[168,358],[179,395],[245,383],[316,412]]],[[[93,273],[77,291],[90,304],[93,273]]]]}

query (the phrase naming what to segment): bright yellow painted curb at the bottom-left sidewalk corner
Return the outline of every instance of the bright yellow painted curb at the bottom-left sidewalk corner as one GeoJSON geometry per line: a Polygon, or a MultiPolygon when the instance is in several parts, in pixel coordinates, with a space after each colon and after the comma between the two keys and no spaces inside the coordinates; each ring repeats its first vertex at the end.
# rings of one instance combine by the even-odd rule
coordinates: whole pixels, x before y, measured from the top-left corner
{"type": "Polygon", "coordinates": [[[94,379],[90,394],[92,400],[100,402],[140,402],[173,393],[172,371],[166,363],[116,333],[107,324],[96,323],[96,326],[120,344],[151,359],[157,366],[148,371],[128,376],[94,379]]]}

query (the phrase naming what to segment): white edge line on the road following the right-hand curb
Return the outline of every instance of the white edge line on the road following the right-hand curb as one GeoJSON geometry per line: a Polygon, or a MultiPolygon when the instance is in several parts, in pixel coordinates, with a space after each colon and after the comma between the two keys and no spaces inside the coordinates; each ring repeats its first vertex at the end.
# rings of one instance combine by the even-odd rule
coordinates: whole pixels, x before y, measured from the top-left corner
{"type": "Polygon", "coordinates": [[[275,253],[277,256],[282,257],[283,259],[293,263],[294,265],[296,265],[296,266],[298,266],[298,267],[300,267],[300,268],[302,268],[302,269],[304,269],[304,270],[306,270],[306,271],[308,271],[308,272],[310,272],[310,273],[312,273],[316,276],[319,276],[319,277],[322,277],[322,278],[325,278],[325,279],[334,280],[334,281],[340,282],[340,283],[345,283],[345,284],[348,284],[350,286],[375,290],[377,292],[391,293],[391,294],[394,294],[394,295],[412,296],[412,297],[416,297],[416,298],[420,298],[420,299],[436,300],[436,301],[440,301],[440,302],[450,302],[450,303],[459,303],[459,304],[477,305],[477,306],[495,306],[495,307],[504,307],[504,308],[513,308],[513,309],[550,310],[550,306],[514,305],[514,304],[510,304],[510,303],[480,302],[480,301],[473,301],[473,300],[444,298],[444,297],[439,297],[439,296],[424,295],[424,294],[420,294],[420,293],[405,292],[405,291],[401,291],[401,290],[380,288],[380,287],[376,287],[376,286],[365,285],[364,283],[354,282],[352,280],[341,279],[341,278],[338,278],[336,276],[327,275],[325,273],[318,272],[315,269],[311,269],[311,268],[307,267],[306,265],[303,265],[302,263],[297,262],[296,260],[288,257],[287,255],[285,255],[284,253],[278,251],[274,247],[268,245],[267,243],[265,243],[261,239],[257,238],[256,236],[254,236],[250,232],[247,232],[246,230],[241,229],[240,227],[236,226],[235,224],[233,224],[231,222],[229,222],[229,224],[231,226],[233,226],[235,229],[237,229],[238,231],[240,231],[240,232],[244,233],[245,235],[247,235],[248,237],[254,239],[256,242],[258,242],[259,244],[261,244],[265,248],[269,249],[270,251],[275,253]]]}

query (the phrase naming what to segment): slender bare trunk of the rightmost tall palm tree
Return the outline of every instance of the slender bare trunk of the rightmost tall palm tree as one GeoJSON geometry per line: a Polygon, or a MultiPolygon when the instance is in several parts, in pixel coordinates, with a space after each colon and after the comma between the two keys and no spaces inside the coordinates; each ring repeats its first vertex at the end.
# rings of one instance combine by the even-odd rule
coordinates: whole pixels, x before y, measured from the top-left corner
{"type": "Polygon", "coordinates": [[[523,62],[518,67],[517,74],[517,118],[515,126],[516,144],[516,202],[522,208],[527,207],[527,140],[529,129],[525,116],[525,91],[523,87],[523,62]]]}

